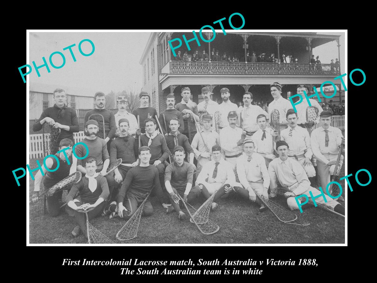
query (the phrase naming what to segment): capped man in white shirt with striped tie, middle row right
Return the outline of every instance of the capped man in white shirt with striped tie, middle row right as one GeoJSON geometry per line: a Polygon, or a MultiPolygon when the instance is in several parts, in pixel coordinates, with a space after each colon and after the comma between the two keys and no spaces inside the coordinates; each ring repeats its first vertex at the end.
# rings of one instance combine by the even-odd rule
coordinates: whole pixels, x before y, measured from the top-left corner
{"type": "MultiPolygon", "coordinates": [[[[308,177],[312,178],[316,175],[316,170],[310,162],[313,151],[311,150],[309,132],[307,129],[297,126],[297,113],[293,109],[288,109],[287,121],[289,127],[280,132],[280,138],[288,143],[288,157],[298,161],[308,177]]],[[[312,184],[313,181],[311,180],[312,184]]]]}

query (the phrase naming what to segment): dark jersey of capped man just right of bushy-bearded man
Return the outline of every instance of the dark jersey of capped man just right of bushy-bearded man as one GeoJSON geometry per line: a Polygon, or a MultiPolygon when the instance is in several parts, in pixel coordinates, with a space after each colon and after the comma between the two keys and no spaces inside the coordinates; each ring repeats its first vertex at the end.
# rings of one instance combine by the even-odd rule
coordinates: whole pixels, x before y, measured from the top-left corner
{"type": "Polygon", "coordinates": [[[135,143],[135,138],[131,135],[127,136],[127,141],[124,137],[117,137],[110,145],[110,164],[116,159],[122,158],[122,163],[132,164],[138,158],[138,144],[135,143]]]}

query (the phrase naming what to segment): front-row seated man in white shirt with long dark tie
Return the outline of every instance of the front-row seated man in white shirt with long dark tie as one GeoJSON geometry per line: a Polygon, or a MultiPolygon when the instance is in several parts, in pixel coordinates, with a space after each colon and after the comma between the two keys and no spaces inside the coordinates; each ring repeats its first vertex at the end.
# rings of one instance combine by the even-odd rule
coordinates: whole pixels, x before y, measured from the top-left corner
{"type": "MultiPolygon", "coordinates": [[[[208,199],[216,191],[233,186],[235,183],[236,176],[233,172],[233,165],[222,158],[221,147],[214,145],[212,147],[212,160],[203,166],[196,179],[196,185],[201,188],[205,199],[208,199]]],[[[217,207],[218,204],[213,201],[211,209],[215,210],[217,207]]]]}

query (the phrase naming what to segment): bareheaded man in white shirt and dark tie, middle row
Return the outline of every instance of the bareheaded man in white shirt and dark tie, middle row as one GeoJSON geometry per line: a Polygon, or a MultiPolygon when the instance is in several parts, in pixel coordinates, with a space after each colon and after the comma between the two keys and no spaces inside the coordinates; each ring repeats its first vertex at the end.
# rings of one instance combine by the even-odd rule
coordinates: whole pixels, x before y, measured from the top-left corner
{"type": "Polygon", "coordinates": [[[277,131],[267,128],[267,117],[264,114],[257,116],[259,130],[253,135],[255,151],[262,155],[266,161],[266,166],[275,158],[273,137],[279,135],[277,131]]]}

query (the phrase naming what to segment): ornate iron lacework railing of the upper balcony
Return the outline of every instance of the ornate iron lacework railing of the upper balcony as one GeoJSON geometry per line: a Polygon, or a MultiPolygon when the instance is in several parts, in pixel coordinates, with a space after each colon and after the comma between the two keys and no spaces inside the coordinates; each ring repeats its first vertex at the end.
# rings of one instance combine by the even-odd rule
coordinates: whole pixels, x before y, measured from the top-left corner
{"type": "Polygon", "coordinates": [[[170,61],[170,74],[340,75],[330,64],[170,61]]]}

